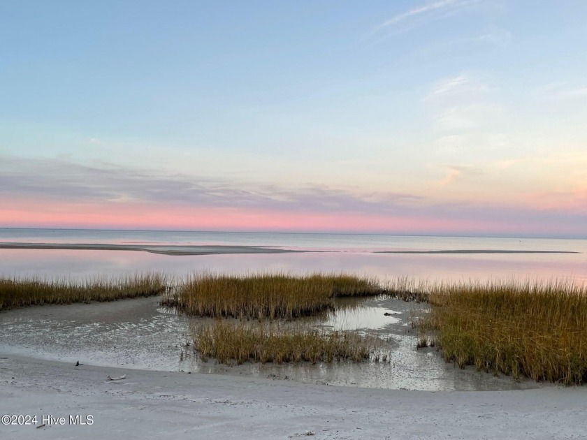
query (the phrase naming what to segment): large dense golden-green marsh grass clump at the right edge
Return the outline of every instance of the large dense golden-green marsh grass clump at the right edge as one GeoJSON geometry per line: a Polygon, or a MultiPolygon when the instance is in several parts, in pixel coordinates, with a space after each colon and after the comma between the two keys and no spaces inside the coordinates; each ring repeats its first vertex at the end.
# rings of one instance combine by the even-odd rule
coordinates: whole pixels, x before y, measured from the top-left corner
{"type": "Polygon", "coordinates": [[[448,362],[518,380],[587,380],[587,289],[567,281],[436,286],[433,328],[448,362]]]}

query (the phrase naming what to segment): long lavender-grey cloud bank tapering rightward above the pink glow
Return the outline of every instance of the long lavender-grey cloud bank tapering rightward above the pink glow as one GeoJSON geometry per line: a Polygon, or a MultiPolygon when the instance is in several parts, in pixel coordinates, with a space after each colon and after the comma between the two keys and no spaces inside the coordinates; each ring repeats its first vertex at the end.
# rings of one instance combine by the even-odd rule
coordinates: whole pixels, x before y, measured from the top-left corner
{"type": "Polygon", "coordinates": [[[254,207],[296,212],[392,212],[419,200],[410,193],[357,193],[328,186],[289,189],[198,179],[154,170],[81,165],[59,159],[0,156],[0,195],[61,202],[173,203],[202,207],[254,207]]]}

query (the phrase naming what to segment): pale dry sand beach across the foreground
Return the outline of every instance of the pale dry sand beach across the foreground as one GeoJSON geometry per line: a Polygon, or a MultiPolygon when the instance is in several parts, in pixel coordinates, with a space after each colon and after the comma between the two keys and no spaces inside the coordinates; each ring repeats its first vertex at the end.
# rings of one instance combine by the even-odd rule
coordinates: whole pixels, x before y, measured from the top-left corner
{"type": "Polygon", "coordinates": [[[378,390],[0,358],[0,415],[66,418],[0,425],[1,439],[587,438],[587,387],[378,390]],[[77,414],[93,424],[69,425],[77,414]]]}

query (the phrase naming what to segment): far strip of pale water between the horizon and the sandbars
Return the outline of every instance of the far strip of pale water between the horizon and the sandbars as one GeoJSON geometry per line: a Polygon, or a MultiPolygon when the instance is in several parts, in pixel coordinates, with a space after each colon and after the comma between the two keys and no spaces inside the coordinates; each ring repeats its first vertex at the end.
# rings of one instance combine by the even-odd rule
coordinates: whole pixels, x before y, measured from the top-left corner
{"type": "Polygon", "coordinates": [[[587,240],[327,233],[0,228],[0,242],[274,246],[336,251],[510,249],[587,252],[587,240]]]}

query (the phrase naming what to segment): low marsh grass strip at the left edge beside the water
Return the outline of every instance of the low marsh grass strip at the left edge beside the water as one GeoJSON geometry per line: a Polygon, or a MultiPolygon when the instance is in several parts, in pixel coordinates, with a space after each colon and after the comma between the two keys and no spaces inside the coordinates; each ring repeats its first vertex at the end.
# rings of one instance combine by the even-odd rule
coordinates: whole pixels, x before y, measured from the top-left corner
{"type": "Polygon", "coordinates": [[[165,277],[157,273],[117,279],[96,277],[85,281],[0,277],[0,310],[159,295],[166,289],[165,281],[165,277]]]}

